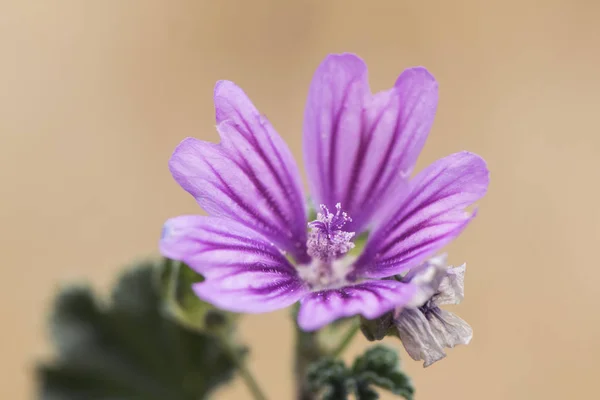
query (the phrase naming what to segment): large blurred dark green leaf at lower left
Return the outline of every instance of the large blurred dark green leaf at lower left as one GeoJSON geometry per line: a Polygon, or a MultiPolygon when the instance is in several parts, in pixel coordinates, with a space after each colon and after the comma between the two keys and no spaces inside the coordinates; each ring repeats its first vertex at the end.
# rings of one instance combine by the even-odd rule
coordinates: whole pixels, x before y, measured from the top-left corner
{"type": "Polygon", "coordinates": [[[58,355],[38,367],[40,399],[198,400],[232,377],[234,363],[216,337],[161,312],[157,273],[150,262],[126,272],[108,304],[89,287],[58,294],[58,355]]]}

